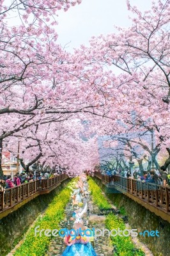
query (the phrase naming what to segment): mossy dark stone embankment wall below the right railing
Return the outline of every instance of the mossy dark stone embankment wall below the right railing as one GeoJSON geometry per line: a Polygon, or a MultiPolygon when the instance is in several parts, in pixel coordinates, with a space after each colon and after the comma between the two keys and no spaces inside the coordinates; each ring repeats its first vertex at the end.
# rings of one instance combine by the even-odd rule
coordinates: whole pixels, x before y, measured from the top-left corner
{"type": "Polygon", "coordinates": [[[137,229],[138,232],[143,232],[144,230],[158,230],[160,232],[160,237],[145,237],[138,236],[140,241],[142,241],[148,248],[153,252],[154,256],[169,256],[170,255],[170,223],[162,220],[162,218],[155,215],[153,212],[148,211],[142,205],[137,204],[134,200],[128,198],[122,193],[107,193],[107,189],[97,178],[98,186],[102,188],[105,195],[112,201],[112,204],[116,205],[118,209],[125,210],[125,214],[128,217],[128,223],[131,228],[137,229]]]}

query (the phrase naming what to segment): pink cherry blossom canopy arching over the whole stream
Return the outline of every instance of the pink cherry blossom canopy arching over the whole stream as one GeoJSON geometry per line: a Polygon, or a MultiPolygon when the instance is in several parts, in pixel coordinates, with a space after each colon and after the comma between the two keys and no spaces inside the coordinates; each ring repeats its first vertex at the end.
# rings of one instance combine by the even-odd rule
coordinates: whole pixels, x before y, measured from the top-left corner
{"type": "Polygon", "coordinates": [[[170,152],[169,0],[144,13],[127,2],[130,28],[93,37],[90,47],[70,54],[58,45],[56,14],[77,3],[1,1],[1,148],[7,141],[15,154],[20,140],[26,170],[40,161],[73,175],[99,164],[96,137],[112,134],[126,145],[125,155],[132,152],[140,165],[148,152],[159,168],[157,154],[170,152]],[[7,22],[15,14],[19,26],[7,22]],[[86,141],[82,120],[89,124],[86,141]],[[154,147],[130,135],[144,132],[154,132],[154,147]]]}

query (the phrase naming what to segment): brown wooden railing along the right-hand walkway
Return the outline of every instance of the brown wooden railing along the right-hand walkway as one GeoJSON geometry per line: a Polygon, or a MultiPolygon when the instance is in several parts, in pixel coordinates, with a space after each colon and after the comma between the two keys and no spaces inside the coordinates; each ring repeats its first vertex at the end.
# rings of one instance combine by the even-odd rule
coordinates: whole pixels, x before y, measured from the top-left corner
{"type": "Polygon", "coordinates": [[[125,178],[117,175],[102,175],[95,171],[95,177],[102,180],[105,184],[111,183],[116,189],[127,192],[140,198],[144,202],[154,204],[155,207],[164,209],[170,212],[170,187],[161,186],[153,183],[143,183],[141,180],[125,178]]]}

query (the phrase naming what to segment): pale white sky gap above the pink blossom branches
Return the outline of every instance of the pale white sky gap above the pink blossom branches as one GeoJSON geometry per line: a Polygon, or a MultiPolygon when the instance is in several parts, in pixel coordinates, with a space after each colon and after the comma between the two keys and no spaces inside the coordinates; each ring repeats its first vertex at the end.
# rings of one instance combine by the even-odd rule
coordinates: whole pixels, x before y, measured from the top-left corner
{"type": "MultiPolygon", "coordinates": [[[[151,0],[130,0],[142,12],[150,9],[151,0]]],[[[88,45],[91,36],[107,35],[114,32],[114,25],[130,26],[126,0],[82,0],[82,3],[73,6],[67,12],[58,13],[58,43],[67,51],[88,45]]]]}

